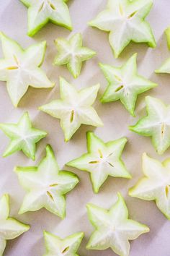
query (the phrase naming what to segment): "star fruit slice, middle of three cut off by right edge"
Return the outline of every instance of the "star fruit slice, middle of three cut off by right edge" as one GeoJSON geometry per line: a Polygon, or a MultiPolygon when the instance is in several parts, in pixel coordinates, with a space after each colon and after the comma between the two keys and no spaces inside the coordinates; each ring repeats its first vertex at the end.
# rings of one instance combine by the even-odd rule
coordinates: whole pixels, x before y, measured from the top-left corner
{"type": "Polygon", "coordinates": [[[147,115],[139,119],[130,130],[152,138],[158,154],[163,154],[170,146],[170,105],[166,106],[158,98],[146,97],[147,115]]]}

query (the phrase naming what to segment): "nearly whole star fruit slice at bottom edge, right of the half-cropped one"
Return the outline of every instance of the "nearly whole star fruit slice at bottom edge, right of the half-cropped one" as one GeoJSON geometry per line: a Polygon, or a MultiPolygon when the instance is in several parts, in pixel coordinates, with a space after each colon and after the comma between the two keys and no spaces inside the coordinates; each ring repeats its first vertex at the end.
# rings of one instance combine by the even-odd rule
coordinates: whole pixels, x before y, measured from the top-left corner
{"type": "Polygon", "coordinates": [[[95,230],[91,235],[86,249],[111,248],[117,255],[128,256],[129,240],[137,239],[149,231],[148,226],[128,218],[128,208],[120,193],[118,200],[109,210],[88,204],[89,221],[95,230]]]}

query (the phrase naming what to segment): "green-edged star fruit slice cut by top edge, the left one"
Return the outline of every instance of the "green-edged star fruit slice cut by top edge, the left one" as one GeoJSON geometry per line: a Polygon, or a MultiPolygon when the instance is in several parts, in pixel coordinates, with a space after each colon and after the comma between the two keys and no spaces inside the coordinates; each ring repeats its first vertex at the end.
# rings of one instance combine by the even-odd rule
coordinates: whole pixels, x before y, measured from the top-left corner
{"type": "Polygon", "coordinates": [[[28,32],[35,35],[49,21],[72,30],[66,0],[20,0],[28,8],[28,32]]]}

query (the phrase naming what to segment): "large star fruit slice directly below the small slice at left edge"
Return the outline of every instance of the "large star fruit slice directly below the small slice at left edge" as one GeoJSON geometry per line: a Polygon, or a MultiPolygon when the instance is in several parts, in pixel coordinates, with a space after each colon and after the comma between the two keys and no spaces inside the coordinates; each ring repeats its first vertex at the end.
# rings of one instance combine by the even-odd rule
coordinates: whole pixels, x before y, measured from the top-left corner
{"type": "Polygon", "coordinates": [[[58,217],[65,218],[65,195],[76,186],[79,179],[69,171],[59,171],[50,145],[46,147],[46,157],[38,166],[17,166],[14,171],[27,192],[19,214],[45,208],[58,217]]]}

